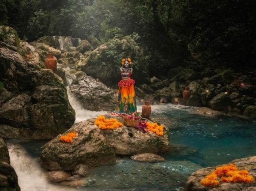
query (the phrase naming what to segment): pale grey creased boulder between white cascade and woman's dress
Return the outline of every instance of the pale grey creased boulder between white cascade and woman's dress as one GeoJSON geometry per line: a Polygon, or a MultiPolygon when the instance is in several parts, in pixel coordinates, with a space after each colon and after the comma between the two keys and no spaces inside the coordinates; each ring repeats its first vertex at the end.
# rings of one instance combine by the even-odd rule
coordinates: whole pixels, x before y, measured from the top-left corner
{"type": "Polygon", "coordinates": [[[110,88],[88,75],[74,80],[70,92],[81,101],[84,109],[93,111],[113,111],[117,101],[110,88]]]}

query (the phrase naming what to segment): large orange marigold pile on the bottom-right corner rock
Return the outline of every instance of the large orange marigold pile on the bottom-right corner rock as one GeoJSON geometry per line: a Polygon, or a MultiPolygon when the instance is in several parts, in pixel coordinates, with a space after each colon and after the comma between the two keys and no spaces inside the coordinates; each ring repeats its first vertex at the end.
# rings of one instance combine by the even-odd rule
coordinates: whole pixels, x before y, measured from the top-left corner
{"type": "Polygon", "coordinates": [[[222,182],[254,182],[254,178],[249,176],[248,170],[238,170],[235,165],[229,164],[216,168],[213,173],[207,175],[206,178],[201,180],[201,184],[204,186],[216,187],[219,184],[218,178],[220,178],[222,182]]]}

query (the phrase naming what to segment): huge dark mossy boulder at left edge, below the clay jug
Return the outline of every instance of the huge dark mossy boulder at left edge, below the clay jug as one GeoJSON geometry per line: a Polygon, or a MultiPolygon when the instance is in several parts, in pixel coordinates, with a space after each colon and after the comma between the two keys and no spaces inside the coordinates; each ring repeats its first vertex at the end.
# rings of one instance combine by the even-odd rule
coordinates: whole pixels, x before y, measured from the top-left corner
{"type": "Polygon", "coordinates": [[[75,121],[63,81],[49,69],[27,62],[0,44],[0,135],[5,138],[51,139],[75,121]],[[2,92],[1,92],[2,94],[2,92]]]}

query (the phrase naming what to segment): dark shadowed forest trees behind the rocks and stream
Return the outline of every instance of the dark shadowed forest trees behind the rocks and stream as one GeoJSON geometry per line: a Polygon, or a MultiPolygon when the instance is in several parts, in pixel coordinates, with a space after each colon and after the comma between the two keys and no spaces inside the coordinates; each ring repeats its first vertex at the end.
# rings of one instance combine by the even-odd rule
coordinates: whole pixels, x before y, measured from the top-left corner
{"type": "MultiPolygon", "coordinates": [[[[150,76],[161,79],[177,66],[251,70],[255,10],[254,0],[1,0],[0,25],[25,41],[72,36],[95,47],[131,35],[150,76]]],[[[109,54],[119,62],[117,52],[109,54]]]]}

